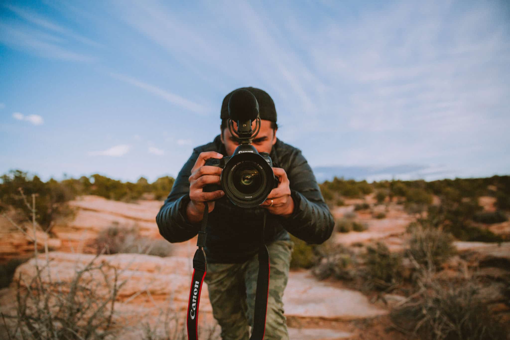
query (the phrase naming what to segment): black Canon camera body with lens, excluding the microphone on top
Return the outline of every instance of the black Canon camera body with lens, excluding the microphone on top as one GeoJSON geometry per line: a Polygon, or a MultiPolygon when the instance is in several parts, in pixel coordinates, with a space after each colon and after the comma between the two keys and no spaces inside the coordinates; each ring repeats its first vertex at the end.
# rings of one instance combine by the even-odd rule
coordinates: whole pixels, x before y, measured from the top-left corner
{"type": "Polygon", "coordinates": [[[223,190],[237,206],[255,207],[263,203],[278,186],[269,153],[259,153],[251,144],[239,145],[232,156],[209,159],[207,166],[222,168],[220,185],[209,184],[204,192],[223,190]]]}

